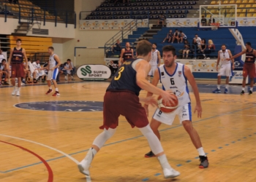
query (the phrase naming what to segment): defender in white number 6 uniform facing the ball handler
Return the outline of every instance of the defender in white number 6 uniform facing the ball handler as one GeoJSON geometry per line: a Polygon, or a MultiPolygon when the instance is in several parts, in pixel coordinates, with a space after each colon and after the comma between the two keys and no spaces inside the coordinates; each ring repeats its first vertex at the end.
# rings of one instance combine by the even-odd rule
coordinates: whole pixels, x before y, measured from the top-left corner
{"type": "MultiPolygon", "coordinates": [[[[197,117],[201,117],[202,107],[197,84],[190,69],[181,63],[176,63],[176,58],[176,49],[173,46],[165,46],[162,48],[162,59],[164,60],[164,65],[160,66],[155,71],[152,84],[157,86],[160,80],[163,90],[170,90],[178,97],[178,108],[170,114],[163,113],[159,110],[159,108],[157,108],[157,111],[155,111],[154,116],[151,119],[150,126],[154,131],[154,134],[156,134],[160,140],[158,127],[162,123],[169,125],[173,124],[173,120],[175,119],[176,115],[178,115],[180,122],[183,124],[184,129],[188,132],[192,143],[199,153],[199,167],[206,168],[208,167],[208,158],[206,157],[206,153],[203,151],[200,137],[195,128],[192,126],[192,109],[190,103],[191,100],[189,98],[189,90],[187,88],[187,80],[189,81],[195,95],[195,111],[197,111],[197,117]]],[[[147,97],[151,95],[153,95],[151,92],[147,93],[147,97]]],[[[144,108],[148,114],[148,105],[145,104],[144,108]]],[[[145,155],[145,157],[154,157],[154,153],[150,151],[145,155]]]]}

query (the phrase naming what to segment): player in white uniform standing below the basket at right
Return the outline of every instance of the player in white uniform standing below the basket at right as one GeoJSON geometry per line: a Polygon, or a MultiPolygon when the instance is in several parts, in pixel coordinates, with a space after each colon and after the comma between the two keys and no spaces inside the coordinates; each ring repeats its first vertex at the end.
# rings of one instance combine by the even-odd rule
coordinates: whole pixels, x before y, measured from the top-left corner
{"type": "MultiPolygon", "coordinates": [[[[222,50],[219,50],[218,53],[218,59],[217,59],[217,66],[216,70],[219,71],[218,74],[218,81],[217,81],[217,89],[214,90],[214,93],[219,93],[220,92],[220,82],[221,82],[221,77],[226,76],[226,86],[225,86],[225,91],[224,93],[228,92],[228,84],[230,82],[230,76],[231,74],[231,61],[227,60],[228,58],[232,58],[232,54],[230,50],[227,50],[226,45],[222,44],[222,50]],[[221,63],[221,67],[219,68],[219,60],[221,63]]],[[[234,59],[232,59],[232,69],[234,70],[235,64],[234,64],[234,59]]]]}

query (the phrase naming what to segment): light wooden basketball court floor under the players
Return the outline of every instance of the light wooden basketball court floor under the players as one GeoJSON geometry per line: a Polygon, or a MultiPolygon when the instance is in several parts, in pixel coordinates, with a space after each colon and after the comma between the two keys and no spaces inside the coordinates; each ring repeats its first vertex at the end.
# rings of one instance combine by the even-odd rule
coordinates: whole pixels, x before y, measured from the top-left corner
{"type": "MultiPolygon", "coordinates": [[[[54,104],[49,105],[52,111],[24,108],[30,102],[102,102],[108,84],[59,84],[60,97],[45,95],[45,84],[22,87],[20,97],[11,95],[12,87],[1,87],[0,181],[256,181],[256,92],[241,96],[241,87],[234,86],[230,88],[233,94],[216,95],[211,93],[216,86],[206,84],[199,85],[203,117],[193,114],[192,120],[208,153],[207,169],[198,168],[197,151],[176,118],[172,126],[162,124],[160,134],[170,165],[181,175],[165,180],[157,159],[144,158],[149,151],[146,138],[121,116],[116,134],[94,158],[91,178],[86,178],[78,172],[76,162],[85,157],[101,132],[102,111],[72,112],[68,104],[67,111],[54,111],[54,104]],[[18,103],[24,103],[19,105],[24,108],[15,107],[18,103]]],[[[194,108],[195,98],[190,95],[194,108]]],[[[145,97],[146,92],[140,96],[145,97]]],[[[150,108],[149,119],[154,109],[150,108]]]]}

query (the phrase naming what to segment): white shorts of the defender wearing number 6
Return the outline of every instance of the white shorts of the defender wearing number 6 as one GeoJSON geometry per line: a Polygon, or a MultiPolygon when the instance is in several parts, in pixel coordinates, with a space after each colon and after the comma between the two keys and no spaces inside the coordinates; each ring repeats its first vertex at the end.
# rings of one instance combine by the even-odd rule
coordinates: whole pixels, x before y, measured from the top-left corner
{"type": "Polygon", "coordinates": [[[158,122],[171,125],[173,124],[176,115],[178,115],[180,123],[184,121],[192,121],[191,104],[186,103],[184,106],[178,106],[178,108],[176,108],[176,110],[171,112],[170,114],[163,113],[159,110],[159,108],[157,108],[157,111],[155,111],[153,118],[156,119],[158,122]]]}

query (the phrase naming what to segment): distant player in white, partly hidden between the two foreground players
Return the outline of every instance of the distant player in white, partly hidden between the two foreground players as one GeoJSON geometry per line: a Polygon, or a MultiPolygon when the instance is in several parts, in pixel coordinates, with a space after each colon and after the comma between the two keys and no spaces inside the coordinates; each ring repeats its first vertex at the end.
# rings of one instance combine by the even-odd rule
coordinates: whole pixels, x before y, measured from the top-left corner
{"type": "Polygon", "coordinates": [[[148,82],[150,82],[150,77],[154,76],[154,71],[160,66],[161,63],[161,55],[159,50],[157,50],[157,44],[152,44],[151,50],[151,59],[149,60],[149,64],[151,66],[151,70],[148,72],[148,82]]]}

